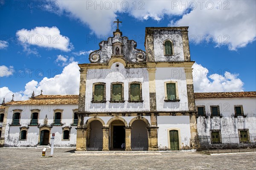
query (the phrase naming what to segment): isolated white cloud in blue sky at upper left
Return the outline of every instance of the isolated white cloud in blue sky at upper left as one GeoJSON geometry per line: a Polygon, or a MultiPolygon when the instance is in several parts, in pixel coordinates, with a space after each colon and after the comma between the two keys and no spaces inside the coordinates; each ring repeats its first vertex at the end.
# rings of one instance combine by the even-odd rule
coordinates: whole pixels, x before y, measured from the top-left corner
{"type": "Polygon", "coordinates": [[[70,39],[61,35],[57,27],[35,27],[31,30],[23,28],[18,30],[16,35],[20,44],[23,45],[24,51],[28,51],[30,45],[55,48],[61,51],[71,51],[73,49],[70,39]]]}

